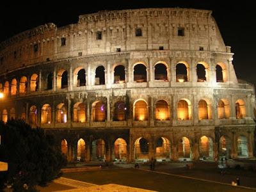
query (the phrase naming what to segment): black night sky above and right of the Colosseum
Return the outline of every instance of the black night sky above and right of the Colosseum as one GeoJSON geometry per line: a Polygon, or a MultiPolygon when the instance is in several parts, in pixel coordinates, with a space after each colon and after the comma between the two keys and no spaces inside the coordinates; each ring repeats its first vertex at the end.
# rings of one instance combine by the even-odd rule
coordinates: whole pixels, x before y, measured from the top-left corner
{"type": "MultiPolygon", "coordinates": [[[[20,1],[1,2],[0,42],[17,33],[42,24],[53,22],[57,27],[77,23],[78,16],[100,10],[122,10],[130,8],[180,7],[212,10],[226,45],[234,52],[233,65],[237,78],[256,85],[256,15],[253,1],[196,1],[196,3],[161,3],[161,1],[20,1]],[[157,3],[156,3],[157,2],[157,3]],[[88,4],[90,3],[90,4],[88,4]],[[122,4],[120,4],[122,3],[122,4]],[[137,3],[137,2],[136,2],[137,3]]],[[[178,2],[178,1],[177,1],[178,2]]],[[[182,2],[182,1],[179,1],[182,2]]]]}

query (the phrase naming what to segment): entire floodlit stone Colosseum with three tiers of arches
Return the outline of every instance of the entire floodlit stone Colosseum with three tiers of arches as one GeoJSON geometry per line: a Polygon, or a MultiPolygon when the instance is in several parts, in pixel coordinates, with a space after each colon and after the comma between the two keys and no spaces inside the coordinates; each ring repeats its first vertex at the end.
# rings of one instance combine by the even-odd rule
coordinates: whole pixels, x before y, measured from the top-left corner
{"type": "Polygon", "coordinates": [[[253,157],[254,86],[211,10],[80,15],[0,44],[0,118],[55,135],[68,161],[253,157]]]}

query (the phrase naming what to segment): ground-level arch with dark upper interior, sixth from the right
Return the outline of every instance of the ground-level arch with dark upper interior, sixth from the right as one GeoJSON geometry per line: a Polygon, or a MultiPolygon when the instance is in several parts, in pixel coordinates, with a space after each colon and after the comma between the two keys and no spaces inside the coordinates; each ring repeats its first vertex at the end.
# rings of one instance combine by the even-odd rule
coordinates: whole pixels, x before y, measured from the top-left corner
{"type": "Polygon", "coordinates": [[[148,161],[148,141],[145,138],[138,138],[134,143],[134,160],[148,161]]]}

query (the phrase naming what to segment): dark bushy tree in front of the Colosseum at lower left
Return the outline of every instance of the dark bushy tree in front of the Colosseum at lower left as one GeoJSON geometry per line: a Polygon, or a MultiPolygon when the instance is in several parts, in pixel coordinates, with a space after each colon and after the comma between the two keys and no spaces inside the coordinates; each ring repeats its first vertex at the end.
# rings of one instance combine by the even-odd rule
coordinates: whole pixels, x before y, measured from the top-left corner
{"type": "Polygon", "coordinates": [[[32,129],[23,120],[0,122],[0,135],[0,161],[8,163],[8,171],[0,172],[0,187],[5,182],[14,191],[36,191],[37,184],[61,176],[67,159],[54,146],[54,136],[39,127],[32,129]]]}

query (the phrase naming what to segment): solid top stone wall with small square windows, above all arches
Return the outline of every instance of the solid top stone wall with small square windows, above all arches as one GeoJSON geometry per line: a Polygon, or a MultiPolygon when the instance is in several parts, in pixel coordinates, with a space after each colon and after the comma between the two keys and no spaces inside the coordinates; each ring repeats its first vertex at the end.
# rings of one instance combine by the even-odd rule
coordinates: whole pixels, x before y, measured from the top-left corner
{"type": "MultiPolygon", "coordinates": [[[[0,74],[36,63],[129,51],[229,52],[209,10],[146,8],[80,15],[44,24],[0,44],[0,74]]],[[[232,56],[231,56],[232,57],[232,56]]]]}

